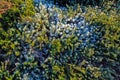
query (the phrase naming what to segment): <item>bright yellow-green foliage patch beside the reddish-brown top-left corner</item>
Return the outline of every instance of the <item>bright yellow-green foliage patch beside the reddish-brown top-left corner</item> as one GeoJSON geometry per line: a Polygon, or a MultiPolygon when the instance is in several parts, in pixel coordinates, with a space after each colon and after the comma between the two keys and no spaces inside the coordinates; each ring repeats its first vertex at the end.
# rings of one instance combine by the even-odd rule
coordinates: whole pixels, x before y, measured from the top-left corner
{"type": "Polygon", "coordinates": [[[35,13],[33,0],[9,0],[11,2],[12,10],[19,11],[23,17],[33,16],[35,13]]]}

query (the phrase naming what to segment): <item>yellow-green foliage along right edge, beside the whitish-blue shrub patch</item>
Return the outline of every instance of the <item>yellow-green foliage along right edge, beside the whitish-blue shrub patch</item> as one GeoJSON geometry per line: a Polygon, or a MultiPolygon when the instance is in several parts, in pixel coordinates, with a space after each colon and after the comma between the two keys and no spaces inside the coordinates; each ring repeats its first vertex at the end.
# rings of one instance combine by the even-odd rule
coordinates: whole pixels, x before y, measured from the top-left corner
{"type": "Polygon", "coordinates": [[[85,16],[91,24],[100,25],[105,30],[100,42],[106,48],[104,54],[117,58],[120,52],[120,14],[111,7],[113,4],[108,4],[104,10],[88,8],[85,16]]]}

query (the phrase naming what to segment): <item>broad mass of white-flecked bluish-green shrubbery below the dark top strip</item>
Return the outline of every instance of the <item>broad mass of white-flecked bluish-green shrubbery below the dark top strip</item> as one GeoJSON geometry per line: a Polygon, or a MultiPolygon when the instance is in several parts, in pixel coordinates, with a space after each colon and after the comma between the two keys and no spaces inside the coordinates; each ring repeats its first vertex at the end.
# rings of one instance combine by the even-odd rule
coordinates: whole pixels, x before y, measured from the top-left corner
{"type": "Polygon", "coordinates": [[[113,3],[84,11],[79,5],[62,11],[40,4],[36,10],[15,28],[0,28],[1,53],[7,53],[0,61],[0,79],[120,78],[120,15],[113,3]]]}

